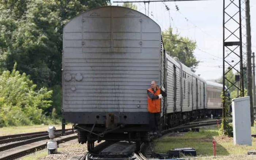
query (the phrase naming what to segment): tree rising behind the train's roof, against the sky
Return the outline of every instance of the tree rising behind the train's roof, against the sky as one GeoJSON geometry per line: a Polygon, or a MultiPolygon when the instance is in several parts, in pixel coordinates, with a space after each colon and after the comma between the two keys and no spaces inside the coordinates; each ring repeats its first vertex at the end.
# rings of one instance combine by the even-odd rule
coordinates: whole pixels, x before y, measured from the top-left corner
{"type": "Polygon", "coordinates": [[[172,57],[177,57],[195,72],[195,68],[199,63],[193,54],[196,49],[196,42],[187,37],[181,37],[178,33],[173,34],[172,28],[164,31],[162,35],[166,53],[172,57]]]}

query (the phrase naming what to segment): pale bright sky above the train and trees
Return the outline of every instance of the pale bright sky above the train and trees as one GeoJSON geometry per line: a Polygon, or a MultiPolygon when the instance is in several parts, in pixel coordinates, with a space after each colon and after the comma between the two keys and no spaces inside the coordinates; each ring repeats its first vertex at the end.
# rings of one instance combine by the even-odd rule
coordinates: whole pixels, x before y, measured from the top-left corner
{"type": "MultiPolygon", "coordinates": [[[[123,3],[113,3],[113,0],[111,2],[112,5],[123,5],[123,3]]],[[[144,3],[134,4],[137,5],[137,10],[143,14],[145,14],[146,8],[146,14],[149,13],[149,17],[159,24],[162,31],[171,26],[182,37],[188,37],[196,41],[197,47],[194,54],[196,59],[200,61],[196,68],[197,75],[200,74],[200,77],[205,80],[214,80],[222,77],[223,0],[151,2],[149,6],[146,3],[146,7],[144,3]],[[170,8],[169,11],[166,11],[165,5],[170,8]],[[177,11],[176,5],[179,11],[177,11]]],[[[245,7],[243,3],[241,6],[242,8],[245,7]]],[[[228,13],[238,11],[235,7],[229,7],[229,9],[228,13]]],[[[256,52],[256,0],[250,1],[250,9],[252,52],[256,52]]],[[[243,15],[244,12],[241,14],[243,15]]],[[[245,20],[242,20],[242,24],[245,25],[245,20]]],[[[235,30],[235,25],[230,23],[229,27],[235,30]]],[[[245,31],[243,28],[242,33],[245,34],[245,31]]],[[[245,37],[242,36],[242,38],[245,37]]],[[[243,59],[246,60],[246,57],[243,57],[243,59]]],[[[234,56],[228,60],[230,62],[234,60],[234,63],[238,61],[234,56]]]]}

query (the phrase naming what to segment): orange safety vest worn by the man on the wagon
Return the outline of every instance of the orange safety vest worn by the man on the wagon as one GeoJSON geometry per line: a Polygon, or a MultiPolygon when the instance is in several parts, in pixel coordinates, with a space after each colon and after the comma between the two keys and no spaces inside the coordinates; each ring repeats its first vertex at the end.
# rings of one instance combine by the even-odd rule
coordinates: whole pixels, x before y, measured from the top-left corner
{"type": "MultiPolygon", "coordinates": [[[[157,91],[154,93],[152,88],[148,88],[148,91],[153,93],[154,95],[159,95],[161,94],[161,90],[157,87],[157,91]]],[[[150,99],[147,96],[147,110],[150,113],[158,113],[160,112],[160,104],[161,104],[161,99],[150,99]]]]}

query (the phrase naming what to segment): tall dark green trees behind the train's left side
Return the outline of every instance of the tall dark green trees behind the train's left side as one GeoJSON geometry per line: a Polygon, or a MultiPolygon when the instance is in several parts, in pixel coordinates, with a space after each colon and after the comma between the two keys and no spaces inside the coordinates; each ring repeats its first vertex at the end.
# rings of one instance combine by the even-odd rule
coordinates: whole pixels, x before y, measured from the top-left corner
{"type": "Polygon", "coordinates": [[[53,106],[42,111],[50,114],[56,108],[56,113],[61,114],[63,26],[81,12],[108,3],[109,0],[0,1],[0,74],[11,71],[17,62],[16,70],[30,75],[36,84],[34,89],[53,89],[53,106]]]}

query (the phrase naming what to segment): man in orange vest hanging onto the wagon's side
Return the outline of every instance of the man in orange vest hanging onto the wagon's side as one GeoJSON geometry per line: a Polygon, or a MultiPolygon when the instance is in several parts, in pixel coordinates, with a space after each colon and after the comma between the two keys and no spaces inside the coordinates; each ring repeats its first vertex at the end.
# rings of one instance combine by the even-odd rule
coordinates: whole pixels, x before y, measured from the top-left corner
{"type": "Polygon", "coordinates": [[[165,88],[160,88],[157,87],[156,81],[153,80],[151,82],[151,87],[147,89],[147,109],[149,112],[150,136],[153,134],[160,134],[161,98],[166,96],[165,88]]]}

